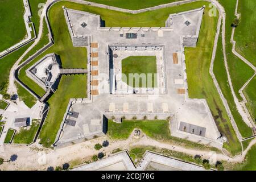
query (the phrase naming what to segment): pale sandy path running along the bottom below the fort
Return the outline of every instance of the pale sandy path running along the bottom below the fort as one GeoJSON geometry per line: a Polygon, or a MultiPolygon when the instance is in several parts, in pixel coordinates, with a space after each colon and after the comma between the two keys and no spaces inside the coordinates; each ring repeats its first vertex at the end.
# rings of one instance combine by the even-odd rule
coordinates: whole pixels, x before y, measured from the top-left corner
{"type": "MultiPolygon", "coordinates": [[[[252,140],[249,147],[256,143],[256,139],[252,140]]],[[[5,144],[5,149],[1,152],[0,157],[9,160],[13,154],[18,155],[15,162],[5,162],[0,166],[1,170],[46,170],[49,166],[62,166],[64,163],[81,164],[85,160],[90,160],[92,155],[97,155],[98,152],[104,152],[106,156],[110,155],[114,149],[120,148],[121,150],[129,149],[134,146],[154,146],[158,148],[167,148],[168,150],[184,152],[189,155],[202,155],[204,159],[211,159],[214,155],[215,160],[228,160],[229,162],[242,162],[247,151],[243,152],[242,156],[229,158],[224,154],[215,154],[213,151],[195,150],[191,148],[181,147],[175,144],[158,142],[154,139],[143,137],[137,139],[133,134],[127,140],[112,140],[104,136],[93,140],[88,140],[78,144],[73,144],[68,147],[57,148],[51,150],[43,148],[39,144],[32,144],[31,146],[19,144],[5,144]],[[101,148],[100,151],[94,149],[96,143],[102,143],[104,140],[109,141],[108,147],[101,148]]]]}

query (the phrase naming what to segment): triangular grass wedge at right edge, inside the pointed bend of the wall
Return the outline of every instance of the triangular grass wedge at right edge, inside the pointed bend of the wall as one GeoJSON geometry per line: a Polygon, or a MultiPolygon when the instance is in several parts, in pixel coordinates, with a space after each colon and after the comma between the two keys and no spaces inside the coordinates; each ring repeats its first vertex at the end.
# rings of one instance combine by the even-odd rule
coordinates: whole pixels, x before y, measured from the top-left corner
{"type": "Polygon", "coordinates": [[[256,92],[255,92],[255,85],[256,85],[256,76],[249,82],[246,88],[243,90],[243,94],[246,97],[247,103],[246,107],[251,114],[251,117],[256,122],[256,92]]]}

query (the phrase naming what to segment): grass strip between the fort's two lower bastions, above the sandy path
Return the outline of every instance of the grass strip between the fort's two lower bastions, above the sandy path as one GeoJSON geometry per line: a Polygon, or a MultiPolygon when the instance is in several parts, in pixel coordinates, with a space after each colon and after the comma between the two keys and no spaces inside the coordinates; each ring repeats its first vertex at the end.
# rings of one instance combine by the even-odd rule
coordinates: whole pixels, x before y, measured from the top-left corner
{"type": "Polygon", "coordinates": [[[134,128],[141,129],[148,137],[168,139],[171,137],[167,120],[123,120],[122,123],[108,122],[108,135],[113,139],[127,139],[134,128]]]}

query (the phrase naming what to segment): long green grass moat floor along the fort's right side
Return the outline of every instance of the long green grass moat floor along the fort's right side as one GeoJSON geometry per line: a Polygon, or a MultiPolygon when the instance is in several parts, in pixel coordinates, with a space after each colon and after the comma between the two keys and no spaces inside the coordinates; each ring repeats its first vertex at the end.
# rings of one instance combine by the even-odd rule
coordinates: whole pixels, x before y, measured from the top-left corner
{"type": "Polygon", "coordinates": [[[224,147],[232,154],[237,154],[241,152],[241,144],[209,74],[217,17],[210,17],[208,11],[206,6],[196,48],[185,48],[188,94],[190,98],[207,100],[218,130],[228,139],[224,147]]]}

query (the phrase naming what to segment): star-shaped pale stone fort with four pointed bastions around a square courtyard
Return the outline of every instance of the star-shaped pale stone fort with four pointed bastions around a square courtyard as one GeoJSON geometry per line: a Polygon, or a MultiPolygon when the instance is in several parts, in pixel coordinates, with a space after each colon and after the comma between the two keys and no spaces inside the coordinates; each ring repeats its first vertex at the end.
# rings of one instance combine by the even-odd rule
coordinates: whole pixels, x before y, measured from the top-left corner
{"type": "Polygon", "coordinates": [[[175,137],[222,148],[224,138],[207,102],[188,97],[184,47],[196,46],[204,7],[171,14],[166,27],[151,28],[104,27],[100,15],[63,10],[73,46],[88,50],[88,97],[69,101],[56,147],[106,134],[108,119],[122,122],[122,118],[146,116],[149,120],[168,118],[175,137]],[[144,70],[142,65],[133,68],[123,62],[150,57],[154,65],[145,62],[144,70]],[[122,76],[126,68],[131,73],[140,70],[139,80],[146,73],[147,84],[127,84],[122,76]],[[154,78],[150,84],[148,75],[154,78]]]}

